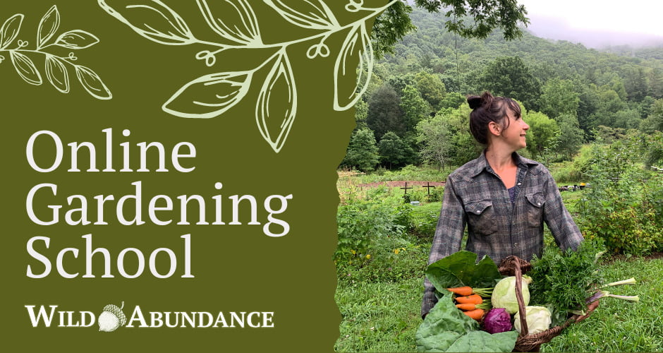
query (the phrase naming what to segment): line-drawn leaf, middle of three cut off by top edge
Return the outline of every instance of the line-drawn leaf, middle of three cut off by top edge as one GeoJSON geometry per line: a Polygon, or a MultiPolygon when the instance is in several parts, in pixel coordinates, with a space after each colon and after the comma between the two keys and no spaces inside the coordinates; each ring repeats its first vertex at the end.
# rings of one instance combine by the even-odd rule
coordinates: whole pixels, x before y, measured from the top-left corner
{"type": "Polygon", "coordinates": [[[258,21],[248,1],[197,0],[197,3],[207,25],[221,37],[247,45],[262,44],[258,21]]]}

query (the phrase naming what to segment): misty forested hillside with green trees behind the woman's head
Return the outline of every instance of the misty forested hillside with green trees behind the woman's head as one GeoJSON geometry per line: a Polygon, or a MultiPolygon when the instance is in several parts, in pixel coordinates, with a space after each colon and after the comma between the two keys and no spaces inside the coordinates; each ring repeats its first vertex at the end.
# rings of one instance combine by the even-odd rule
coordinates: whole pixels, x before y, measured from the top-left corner
{"type": "Polygon", "coordinates": [[[596,138],[663,130],[663,48],[600,52],[526,31],[465,39],[440,13],[410,17],[418,30],[376,62],[341,167],[463,164],[479,150],[465,97],[484,90],[521,102],[531,126],[523,153],[545,162],[570,160],[596,138]]]}

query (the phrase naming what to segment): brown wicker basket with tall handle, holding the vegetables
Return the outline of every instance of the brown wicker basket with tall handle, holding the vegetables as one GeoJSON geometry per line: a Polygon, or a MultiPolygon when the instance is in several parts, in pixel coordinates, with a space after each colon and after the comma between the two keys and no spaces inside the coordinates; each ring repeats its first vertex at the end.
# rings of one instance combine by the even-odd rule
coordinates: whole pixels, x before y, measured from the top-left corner
{"type": "MultiPolygon", "coordinates": [[[[518,310],[522,313],[525,312],[525,301],[523,300],[523,293],[521,292],[523,273],[527,273],[528,270],[532,268],[532,265],[517,256],[509,256],[504,258],[499,264],[499,273],[506,276],[515,276],[516,277],[516,299],[518,300],[518,310]]],[[[559,335],[562,330],[571,325],[571,323],[578,323],[585,320],[598,305],[598,301],[595,301],[595,305],[591,305],[588,308],[588,311],[583,316],[573,315],[568,320],[564,321],[563,324],[559,326],[554,326],[540,333],[534,335],[528,334],[527,321],[525,321],[525,315],[520,315],[521,320],[521,333],[516,339],[516,347],[513,348],[513,352],[539,352],[539,348],[542,344],[550,342],[554,337],[559,335]]]]}

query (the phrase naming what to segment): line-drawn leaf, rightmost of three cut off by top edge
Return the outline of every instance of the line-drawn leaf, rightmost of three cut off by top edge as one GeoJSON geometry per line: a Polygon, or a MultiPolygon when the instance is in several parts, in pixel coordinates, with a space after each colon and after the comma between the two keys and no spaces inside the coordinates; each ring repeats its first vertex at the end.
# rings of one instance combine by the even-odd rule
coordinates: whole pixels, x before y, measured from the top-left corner
{"type": "Polygon", "coordinates": [[[340,27],[334,12],[322,0],[263,0],[293,25],[327,30],[340,27]]]}

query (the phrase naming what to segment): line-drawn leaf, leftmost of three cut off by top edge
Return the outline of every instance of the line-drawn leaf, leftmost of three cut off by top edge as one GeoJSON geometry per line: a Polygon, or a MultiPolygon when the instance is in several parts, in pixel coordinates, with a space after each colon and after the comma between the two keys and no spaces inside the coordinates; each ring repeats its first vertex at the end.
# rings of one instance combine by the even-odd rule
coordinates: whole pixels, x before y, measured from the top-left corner
{"type": "Polygon", "coordinates": [[[139,35],[161,44],[195,42],[183,18],[159,0],[98,0],[107,13],[139,35]],[[116,6],[110,6],[116,4],[116,6]]]}

